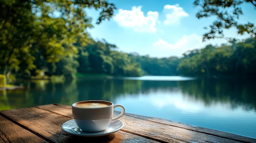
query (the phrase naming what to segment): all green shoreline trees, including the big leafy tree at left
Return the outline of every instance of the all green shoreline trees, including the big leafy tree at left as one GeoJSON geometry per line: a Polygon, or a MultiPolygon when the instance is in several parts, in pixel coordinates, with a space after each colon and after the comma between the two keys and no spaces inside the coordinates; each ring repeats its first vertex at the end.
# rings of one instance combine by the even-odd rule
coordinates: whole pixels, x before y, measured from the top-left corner
{"type": "Polygon", "coordinates": [[[106,0],[0,1],[0,74],[7,78],[76,77],[76,73],[142,75],[256,75],[256,37],[187,51],[183,57],[154,58],[122,53],[115,44],[94,40],[87,9],[99,11],[96,24],[117,9],[106,0]],[[14,76],[13,76],[14,75],[14,76]]]}

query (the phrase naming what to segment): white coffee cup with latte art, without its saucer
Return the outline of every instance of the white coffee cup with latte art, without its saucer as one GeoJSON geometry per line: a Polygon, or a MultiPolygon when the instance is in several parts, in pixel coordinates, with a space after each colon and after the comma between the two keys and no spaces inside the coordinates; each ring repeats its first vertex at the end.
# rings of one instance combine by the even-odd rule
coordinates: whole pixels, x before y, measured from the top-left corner
{"type": "Polygon", "coordinates": [[[100,132],[106,130],[112,121],[124,115],[124,106],[110,101],[88,100],[72,104],[72,114],[76,125],[83,132],[100,132]],[[121,107],[121,113],[113,118],[116,107],[121,107]]]}

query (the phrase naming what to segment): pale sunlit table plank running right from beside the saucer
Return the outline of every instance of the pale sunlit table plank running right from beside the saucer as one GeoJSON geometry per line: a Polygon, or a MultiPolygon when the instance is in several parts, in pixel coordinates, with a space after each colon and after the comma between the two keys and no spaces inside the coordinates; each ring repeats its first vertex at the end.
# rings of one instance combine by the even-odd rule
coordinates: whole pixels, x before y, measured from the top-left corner
{"type": "Polygon", "coordinates": [[[204,134],[193,130],[187,130],[172,125],[147,121],[130,116],[123,116],[122,121],[126,125],[123,128],[123,131],[125,132],[132,132],[133,134],[138,134],[140,136],[149,136],[166,142],[241,143],[240,141],[225,139],[219,136],[204,134]],[[137,130],[138,127],[141,130],[137,130]]]}

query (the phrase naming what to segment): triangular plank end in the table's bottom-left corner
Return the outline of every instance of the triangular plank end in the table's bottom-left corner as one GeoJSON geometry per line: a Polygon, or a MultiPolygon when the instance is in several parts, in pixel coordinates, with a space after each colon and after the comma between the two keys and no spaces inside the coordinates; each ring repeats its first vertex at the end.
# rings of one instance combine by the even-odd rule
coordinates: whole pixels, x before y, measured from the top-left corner
{"type": "Polygon", "coordinates": [[[0,115],[0,143],[49,143],[0,115]]]}

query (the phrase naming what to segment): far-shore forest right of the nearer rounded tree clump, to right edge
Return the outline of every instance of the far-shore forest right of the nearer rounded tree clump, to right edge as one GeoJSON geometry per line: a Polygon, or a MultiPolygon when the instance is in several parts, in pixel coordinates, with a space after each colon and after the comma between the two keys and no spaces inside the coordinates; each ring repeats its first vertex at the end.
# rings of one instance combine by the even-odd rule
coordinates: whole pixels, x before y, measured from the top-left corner
{"type": "Polygon", "coordinates": [[[150,58],[130,54],[146,75],[183,75],[192,77],[256,77],[256,38],[231,39],[215,47],[187,51],[182,58],[150,58]]]}

